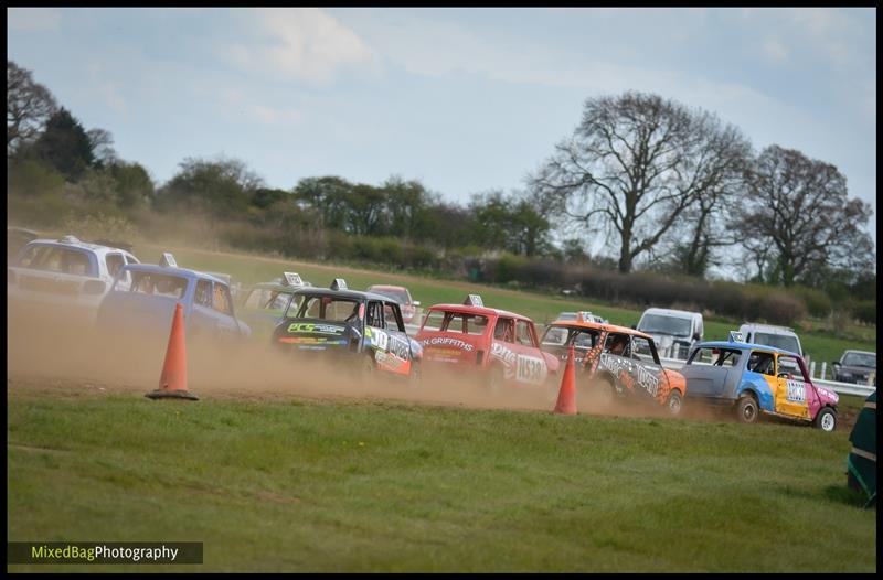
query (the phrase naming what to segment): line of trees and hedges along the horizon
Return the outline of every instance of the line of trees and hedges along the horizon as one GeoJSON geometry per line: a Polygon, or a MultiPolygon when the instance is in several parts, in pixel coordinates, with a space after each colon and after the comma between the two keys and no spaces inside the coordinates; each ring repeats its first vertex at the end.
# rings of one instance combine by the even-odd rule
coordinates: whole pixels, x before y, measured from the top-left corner
{"type": "Polygon", "coordinates": [[[829,296],[871,279],[875,289],[875,246],[864,229],[872,212],[849,196],[834,165],[777,144],[755,152],[715,115],[652,94],[586,99],[573,133],[523,190],[458,204],[395,175],[376,185],[310,176],[272,189],[223,158],[184,159],[157,184],[119,158],[109,131],[86,130],[8,61],[7,164],[10,212],[38,222],[73,212],[137,225],[185,212],[237,224],[244,244],[251,236],[272,246],[278,236],[276,247],[295,256],[285,239],[300,232],[301,249],[331,235],[395,239],[440,257],[418,266],[496,251],[698,279],[727,267],[744,281],[829,296]]]}

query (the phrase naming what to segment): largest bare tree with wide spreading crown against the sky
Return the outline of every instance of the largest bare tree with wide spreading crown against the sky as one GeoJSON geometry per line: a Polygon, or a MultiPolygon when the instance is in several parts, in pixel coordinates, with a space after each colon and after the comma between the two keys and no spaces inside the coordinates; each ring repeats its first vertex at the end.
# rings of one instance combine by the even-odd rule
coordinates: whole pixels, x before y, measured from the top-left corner
{"type": "Polygon", "coordinates": [[[701,195],[723,191],[746,147],[706,112],[629,92],[587,99],[573,137],[530,182],[588,234],[605,233],[628,272],[701,195]]]}

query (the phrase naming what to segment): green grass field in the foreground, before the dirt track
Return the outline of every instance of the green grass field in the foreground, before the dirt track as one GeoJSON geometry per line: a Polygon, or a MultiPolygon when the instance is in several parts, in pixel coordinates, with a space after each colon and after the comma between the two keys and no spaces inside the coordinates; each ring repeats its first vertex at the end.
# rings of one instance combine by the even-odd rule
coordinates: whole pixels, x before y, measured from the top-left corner
{"type": "Polygon", "coordinates": [[[204,543],[102,571],[876,570],[843,429],[7,387],[10,540],[204,543]]]}

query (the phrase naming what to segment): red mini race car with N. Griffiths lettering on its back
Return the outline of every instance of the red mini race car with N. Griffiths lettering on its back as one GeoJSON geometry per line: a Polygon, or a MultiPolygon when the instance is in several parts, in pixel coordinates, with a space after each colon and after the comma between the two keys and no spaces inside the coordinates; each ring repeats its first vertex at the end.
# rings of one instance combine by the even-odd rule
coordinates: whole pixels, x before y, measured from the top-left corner
{"type": "MultiPolygon", "coordinates": [[[[476,374],[494,391],[517,385],[554,383],[560,363],[540,350],[528,316],[486,308],[470,294],[462,304],[429,308],[416,335],[428,365],[476,374]]],[[[557,385],[550,385],[556,387],[557,385]]]]}

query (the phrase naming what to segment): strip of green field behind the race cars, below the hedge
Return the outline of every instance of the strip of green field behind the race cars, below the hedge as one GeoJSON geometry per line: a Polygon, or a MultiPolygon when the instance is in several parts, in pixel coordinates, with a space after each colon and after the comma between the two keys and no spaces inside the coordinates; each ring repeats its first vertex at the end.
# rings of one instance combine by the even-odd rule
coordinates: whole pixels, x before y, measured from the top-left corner
{"type": "MultiPolygon", "coordinates": [[[[608,319],[614,324],[625,326],[637,324],[641,314],[640,310],[610,307],[587,300],[574,300],[538,292],[436,280],[411,275],[152,244],[138,244],[135,247],[136,255],[148,262],[159,262],[161,253],[167,250],[174,253],[178,265],[181,267],[230,273],[234,277],[234,280],[245,284],[278,278],[281,276],[283,270],[290,270],[299,272],[304,279],[316,286],[327,287],[334,278],[339,277],[345,278],[349,287],[357,290],[362,290],[374,283],[406,286],[414,299],[421,301],[423,307],[443,302],[460,303],[466,298],[466,294],[479,293],[482,296],[486,305],[525,314],[541,324],[551,322],[562,311],[591,310],[608,319]]],[[[705,340],[725,340],[728,332],[738,329],[742,322],[744,321],[706,320],[705,340]]],[[[862,340],[837,339],[825,332],[800,333],[800,341],[811,359],[817,362],[817,365],[820,366],[822,362],[826,362],[830,366],[830,362],[839,359],[847,348],[876,352],[875,329],[866,329],[859,334],[862,340]]],[[[819,369],[816,373],[818,375],[819,369]]]]}

